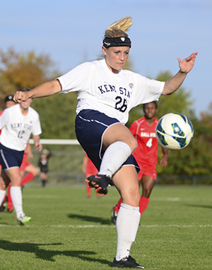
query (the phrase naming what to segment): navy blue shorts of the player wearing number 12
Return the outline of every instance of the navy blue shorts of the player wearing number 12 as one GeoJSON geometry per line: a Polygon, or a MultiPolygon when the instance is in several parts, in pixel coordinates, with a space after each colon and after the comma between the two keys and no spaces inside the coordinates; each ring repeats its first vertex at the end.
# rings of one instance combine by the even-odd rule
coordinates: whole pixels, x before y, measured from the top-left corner
{"type": "Polygon", "coordinates": [[[24,151],[12,150],[0,144],[0,164],[2,170],[20,167],[24,151]]]}

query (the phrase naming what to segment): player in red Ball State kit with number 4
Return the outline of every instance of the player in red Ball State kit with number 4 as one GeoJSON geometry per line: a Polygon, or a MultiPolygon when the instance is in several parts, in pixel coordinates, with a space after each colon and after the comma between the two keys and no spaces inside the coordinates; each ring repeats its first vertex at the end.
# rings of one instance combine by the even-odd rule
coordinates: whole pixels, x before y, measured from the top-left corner
{"type": "MultiPolygon", "coordinates": [[[[158,140],[155,137],[155,128],[158,123],[158,120],[155,119],[157,108],[156,101],[143,104],[144,116],[132,123],[129,128],[138,142],[138,147],[133,155],[141,169],[138,174],[138,179],[142,184],[142,196],[139,202],[141,215],[148,206],[149,197],[157,177],[158,140]]],[[[167,165],[168,150],[162,147],[162,151],[163,157],[160,160],[160,165],[164,167],[167,165]]],[[[117,205],[112,208],[112,223],[114,224],[116,223],[121,203],[122,198],[120,198],[117,205]]]]}

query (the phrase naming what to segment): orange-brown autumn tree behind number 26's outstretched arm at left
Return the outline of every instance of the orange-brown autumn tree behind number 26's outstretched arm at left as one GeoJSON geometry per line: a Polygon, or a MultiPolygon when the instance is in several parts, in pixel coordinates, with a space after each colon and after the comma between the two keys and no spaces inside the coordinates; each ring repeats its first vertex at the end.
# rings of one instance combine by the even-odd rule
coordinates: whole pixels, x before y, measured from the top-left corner
{"type": "Polygon", "coordinates": [[[59,72],[49,55],[35,52],[16,52],[12,47],[6,52],[0,49],[0,106],[4,108],[4,97],[14,94],[21,87],[34,88],[54,79],[59,72]]]}

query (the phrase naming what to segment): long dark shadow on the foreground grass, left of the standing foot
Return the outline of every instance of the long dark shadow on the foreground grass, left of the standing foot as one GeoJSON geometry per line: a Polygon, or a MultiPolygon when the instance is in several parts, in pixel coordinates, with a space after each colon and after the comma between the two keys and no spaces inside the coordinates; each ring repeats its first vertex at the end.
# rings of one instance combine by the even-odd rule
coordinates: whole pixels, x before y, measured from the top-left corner
{"type": "Polygon", "coordinates": [[[45,261],[55,261],[54,256],[63,255],[66,257],[78,258],[83,261],[94,261],[100,262],[100,264],[107,264],[111,266],[111,261],[105,259],[96,259],[91,258],[90,255],[95,255],[95,252],[88,252],[84,250],[70,250],[70,251],[59,251],[59,250],[46,250],[41,249],[40,246],[56,246],[61,245],[61,243],[52,243],[52,244],[35,244],[30,242],[25,243],[16,243],[9,242],[6,240],[0,240],[0,249],[13,251],[13,252],[26,252],[26,253],[35,253],[37,259],[43,259],[45,261]]]}

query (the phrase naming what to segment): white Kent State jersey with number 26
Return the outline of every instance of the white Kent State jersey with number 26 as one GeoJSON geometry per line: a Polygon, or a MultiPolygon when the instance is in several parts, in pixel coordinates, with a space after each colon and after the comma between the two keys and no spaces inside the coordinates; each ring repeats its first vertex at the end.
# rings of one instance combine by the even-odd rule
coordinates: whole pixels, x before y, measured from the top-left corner
{"type": "Polygon", "coordinates": [[[164,82],[122,69],[114,74],[105,60],[78,65],[59,79],[63,93],[78,91],[76,113],[93,109],[125,124],[131,108],[158,100],[164,82]]]}

